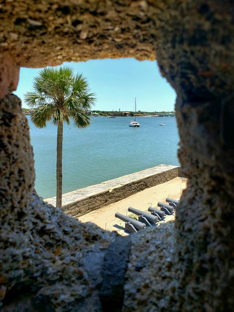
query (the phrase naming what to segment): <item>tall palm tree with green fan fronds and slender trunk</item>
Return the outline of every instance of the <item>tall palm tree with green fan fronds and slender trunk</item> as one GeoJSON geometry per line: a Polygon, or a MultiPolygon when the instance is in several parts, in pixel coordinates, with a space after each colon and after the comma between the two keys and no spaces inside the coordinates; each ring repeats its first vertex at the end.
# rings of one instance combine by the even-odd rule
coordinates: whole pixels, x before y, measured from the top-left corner
{"type": "Polygon", "coordinates": [[[37,127],[46,127],[49,120],[57,125],[56,206],[62,207],[63,123],[69,124],[72,118],[78,128],[87,127],[90,119],[86,113],[94,105],[95,95],[86,78],[75,75],[72,68],[44,68],[34,78],[33,91],[25,94],[25,102],[35,108],[31,119],[37,127]]]}

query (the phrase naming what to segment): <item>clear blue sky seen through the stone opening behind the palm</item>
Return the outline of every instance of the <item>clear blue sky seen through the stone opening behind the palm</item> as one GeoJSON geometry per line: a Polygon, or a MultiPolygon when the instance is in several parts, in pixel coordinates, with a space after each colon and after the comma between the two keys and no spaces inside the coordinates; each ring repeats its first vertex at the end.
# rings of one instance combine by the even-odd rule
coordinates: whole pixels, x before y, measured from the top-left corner
{"type": "MultiPolygon", "coordinates": [[[[162,78],[156,61],[129,59],[89,60],[87,62],[63,63],[81,72],[87,79],[97,101],[93,110],[133,111],[135,97],[137,111],[173,111],[176,99],[174,89],[162,78]]],[[[21,68],[17,90],[22,99],[32,89],[32,81],[39,69],[21,68]]]]}

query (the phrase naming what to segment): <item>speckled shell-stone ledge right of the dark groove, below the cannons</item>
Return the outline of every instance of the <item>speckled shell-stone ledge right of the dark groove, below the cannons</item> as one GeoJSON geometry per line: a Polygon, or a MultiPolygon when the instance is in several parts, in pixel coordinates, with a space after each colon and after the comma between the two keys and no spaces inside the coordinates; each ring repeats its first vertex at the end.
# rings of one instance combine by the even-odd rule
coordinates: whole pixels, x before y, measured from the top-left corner
{"type": "MultiPolygon", "coordinates": [[[[123,312],[181,311],[178,300],[180,268],[176,263],[174,224],[132,234],[131,252],[124,287],[123,312]],[[173,296],[170,298],[169,296],[173,296]]],[[[188,310],[191,311],[191,310],[188,310]]],[[[196,311],[196,310],[193,310],[196,311]]]]}

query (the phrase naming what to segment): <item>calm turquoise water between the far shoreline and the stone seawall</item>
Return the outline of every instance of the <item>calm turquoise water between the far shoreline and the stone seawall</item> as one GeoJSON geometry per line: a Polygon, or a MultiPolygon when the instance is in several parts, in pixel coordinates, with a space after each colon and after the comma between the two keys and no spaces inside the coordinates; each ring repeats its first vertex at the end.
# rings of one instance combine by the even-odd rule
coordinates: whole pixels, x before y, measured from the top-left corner
{"type": "MultiPolygon", "coordinates": [[[[36,128],[30,117],[36,190],[43,198],[56,195],[56,127],[36,128]]],[[[178,132],[173,117],[92,117],[85,129],[64,125],[63,193],[114,179],[158,164],[178,165],[178,132]],[[166,126],[159,126],[165,123],[166,126]]]]}

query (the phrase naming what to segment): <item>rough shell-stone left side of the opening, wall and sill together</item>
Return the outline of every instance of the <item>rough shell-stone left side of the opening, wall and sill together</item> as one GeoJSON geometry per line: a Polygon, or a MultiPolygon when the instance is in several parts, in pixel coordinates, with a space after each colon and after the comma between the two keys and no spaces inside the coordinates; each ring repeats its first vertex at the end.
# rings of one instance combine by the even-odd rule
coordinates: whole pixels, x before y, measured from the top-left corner
{"type": "Polygon", "coordinates": [[[103,250],[115,234],[93,224],[81,225],[34,193],[33,153],[21,101],[11,94],[0,101],[0,108],[3,311],[25,311],[26,307],[29,311],[77,311],[85,298],[85,308],[91,305],[100,311],[95,282],[89,279],[83,260],[95,253],[102,262],[103,250]]]}

